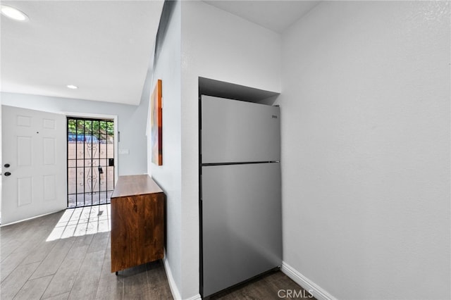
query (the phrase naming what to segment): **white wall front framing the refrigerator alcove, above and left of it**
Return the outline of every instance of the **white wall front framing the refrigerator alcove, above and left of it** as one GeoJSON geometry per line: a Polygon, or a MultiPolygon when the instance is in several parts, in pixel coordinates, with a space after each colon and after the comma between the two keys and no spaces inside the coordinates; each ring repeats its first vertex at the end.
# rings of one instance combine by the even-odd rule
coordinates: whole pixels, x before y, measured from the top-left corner
{"type": "Polygon", "coordinates": [[[202,1],[182,1],[184,299],[199,293],[198,77],[280,92],[280,36],[202,1]]]}

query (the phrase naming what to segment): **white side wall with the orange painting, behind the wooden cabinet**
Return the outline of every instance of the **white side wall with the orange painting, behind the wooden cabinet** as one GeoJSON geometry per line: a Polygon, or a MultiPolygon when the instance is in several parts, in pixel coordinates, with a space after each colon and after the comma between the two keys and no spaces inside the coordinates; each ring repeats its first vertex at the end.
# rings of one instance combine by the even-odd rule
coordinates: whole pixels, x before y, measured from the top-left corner
{"type": "MultiPolygon", "coordinates": [[[[166,5],[166,4],[165,4],[166,5]]],[[[161,51],[154,63],[151,94],[156,80],[162,81],[163,94],[163,165],[152,163],[151,135],[147,137],[149,156],[148,168],[154,180],[166,194],[166,272],[170,268],[173,278],[168,278],[173,296],[180,296],[183,282],[183,224],[182,224],[182,194],[181,194],[181,82],[180,82],[180,32],[181,8],[180,2],[173,3],[173,11],[168,20],[166,35],[161,40],[161,51]],[[171,282],[173,280],[173,282],[171,282]],[[175,289],[175,290],[174,290],[175,289]]],[[[164,10],[165,8],[163,8],[164,10]]],[[[159,32],[160,34],[160,32],[159,32]]],[[[195,274],[191,275],[192,277],[195,274]]],[[[169,277],[169,276],[168,276],[169,277]]]]}

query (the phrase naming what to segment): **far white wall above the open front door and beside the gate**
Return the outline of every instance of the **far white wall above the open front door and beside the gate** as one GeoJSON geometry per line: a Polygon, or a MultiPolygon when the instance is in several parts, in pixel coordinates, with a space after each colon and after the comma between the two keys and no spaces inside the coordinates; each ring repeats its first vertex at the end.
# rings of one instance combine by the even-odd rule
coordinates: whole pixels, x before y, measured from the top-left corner
{"type": "Polygon", "coordinates": [[[146,122],[147,104],[132,106],[101,101],[66,99],[51,96],[1,93],[1,104],[54,113],[97,113],[118,115],[118,130],[121,132],[119,149],[128,149],[129,154],[116,154],[118,175],[147,173],[146,122]],[[118,161],[118,163],[117,163],[118,161]]]}

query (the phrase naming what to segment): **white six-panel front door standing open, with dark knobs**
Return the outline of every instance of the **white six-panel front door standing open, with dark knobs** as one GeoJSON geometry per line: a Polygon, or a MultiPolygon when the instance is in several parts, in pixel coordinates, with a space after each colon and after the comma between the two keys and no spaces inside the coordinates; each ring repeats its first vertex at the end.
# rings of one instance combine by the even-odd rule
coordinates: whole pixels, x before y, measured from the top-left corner
{"type": "Polygon", "coordinates": [[[1,224],[67,206],[66,116],[2,107],[1,224]]]}

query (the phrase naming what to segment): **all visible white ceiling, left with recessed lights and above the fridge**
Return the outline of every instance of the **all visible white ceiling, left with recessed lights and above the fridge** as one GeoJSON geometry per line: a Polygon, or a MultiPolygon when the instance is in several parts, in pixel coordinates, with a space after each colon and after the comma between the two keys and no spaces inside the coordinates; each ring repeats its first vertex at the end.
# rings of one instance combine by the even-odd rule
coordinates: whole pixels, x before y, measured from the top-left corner
{"type": "MultiPolygon", "coordinates": [[[[319,1],[204,1],[276,32],[319,1]]],[[[137,105],[163,0],[1,1],[0,90],[137,105]],[[78,89],[68,89],[76,85],[78,89]]]]}

